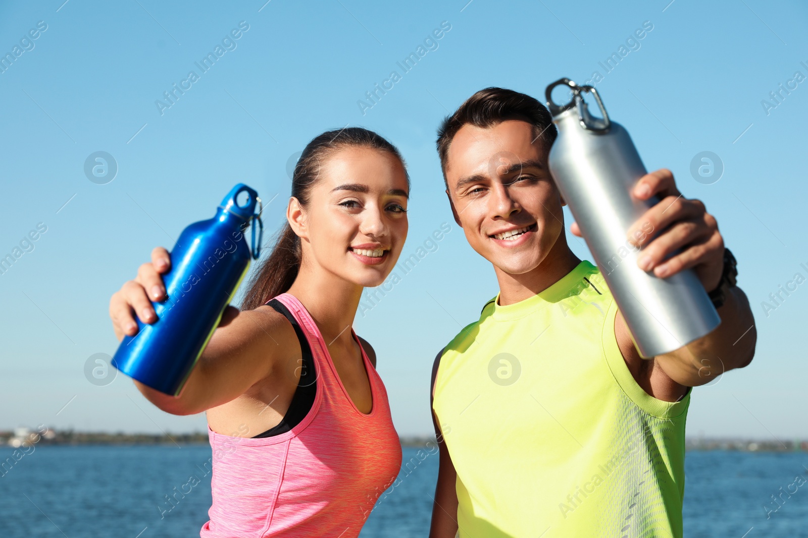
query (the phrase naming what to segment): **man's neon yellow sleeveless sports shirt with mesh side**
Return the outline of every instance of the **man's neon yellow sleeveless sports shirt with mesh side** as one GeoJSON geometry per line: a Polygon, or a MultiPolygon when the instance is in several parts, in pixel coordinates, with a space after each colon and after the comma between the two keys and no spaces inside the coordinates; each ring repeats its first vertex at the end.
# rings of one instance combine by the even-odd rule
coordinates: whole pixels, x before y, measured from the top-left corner
{"type": "Polygon", "coordinates": [[[634,381],[600,271],[582,261],[532,298],[498,299],[436,375],[460,536],[682,536],[690,394],[664,402],[634,381]]]}

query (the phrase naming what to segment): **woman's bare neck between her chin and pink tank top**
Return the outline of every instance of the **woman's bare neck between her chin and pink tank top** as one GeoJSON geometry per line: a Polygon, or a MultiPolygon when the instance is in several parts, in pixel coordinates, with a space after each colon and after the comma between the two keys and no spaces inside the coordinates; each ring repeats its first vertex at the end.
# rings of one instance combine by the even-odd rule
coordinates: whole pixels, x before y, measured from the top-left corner
{"type": "Polygon", "coordinates": [[[300,301],[317,323],[326,344],[351,340],[351,331],[364,287],[347,282],[322,268],[304,265],[288,294],[300,301]]]}

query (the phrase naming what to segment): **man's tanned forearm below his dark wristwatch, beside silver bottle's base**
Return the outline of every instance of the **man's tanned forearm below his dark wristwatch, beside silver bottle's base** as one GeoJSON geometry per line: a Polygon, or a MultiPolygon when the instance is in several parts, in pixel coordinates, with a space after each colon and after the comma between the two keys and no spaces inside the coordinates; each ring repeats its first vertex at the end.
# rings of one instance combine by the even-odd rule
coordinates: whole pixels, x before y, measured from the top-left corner
{"type": "Polygon", "coordinates": [[[743,368],[755,355],[755,319],[738,286],[726,290],[718,309],[721,324],[709,335],[655,357],[671,379],[684,386],[705,385],[726,370],[743,368]]]}

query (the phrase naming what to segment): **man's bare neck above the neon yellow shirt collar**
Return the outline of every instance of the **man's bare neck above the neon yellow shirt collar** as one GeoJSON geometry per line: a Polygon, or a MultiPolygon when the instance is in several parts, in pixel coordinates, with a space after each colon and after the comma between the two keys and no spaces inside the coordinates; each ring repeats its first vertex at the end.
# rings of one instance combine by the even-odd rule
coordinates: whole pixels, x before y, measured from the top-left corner
{"type": "Polygon", "coordinates": [[[499,305],[507,306],[540,294],[581,263],[562,235],[535,269],[522,274],[506,273],[494,266],[499,282],[499,305]]]}

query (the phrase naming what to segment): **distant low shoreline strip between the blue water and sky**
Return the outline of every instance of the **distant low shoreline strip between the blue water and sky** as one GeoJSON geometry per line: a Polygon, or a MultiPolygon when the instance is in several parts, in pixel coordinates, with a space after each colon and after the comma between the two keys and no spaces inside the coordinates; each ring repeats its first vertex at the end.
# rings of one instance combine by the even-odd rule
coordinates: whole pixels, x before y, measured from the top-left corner
{"type": "MultiPolygon", "coordinates": [[[[435,437],[404,436],[399,438],[402,447],[423,448],[435,443],[435,437]]],[[[75,432],[73,430],[53,430],[46,428],[32,432],[27,428],[17,428],[14,432],[0,431],[0,448],[19,448],[36,444],[40,446],[142,446],[142,445],[183,445],[208,444],[208,434],[203,432],[171,433],[162,435],[149,433],[108,433],[75,432]],[[42,435],[40,435],[40,433],[42,435]]],[[[744,438],[688,438],[684,448],[687,451],[727,450],[736,452],[808,452],[808,440],[755,440],[744,438]]]]}

